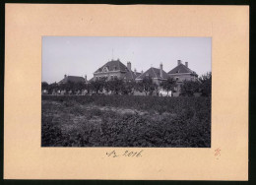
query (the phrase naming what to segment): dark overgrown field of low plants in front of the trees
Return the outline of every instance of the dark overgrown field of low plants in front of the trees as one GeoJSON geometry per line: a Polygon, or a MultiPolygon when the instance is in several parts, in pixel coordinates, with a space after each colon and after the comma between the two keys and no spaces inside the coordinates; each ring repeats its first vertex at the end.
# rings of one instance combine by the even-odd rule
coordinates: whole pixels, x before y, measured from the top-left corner
{"type": "Polygon", "coordinates": [[[41,98],[42,147],[211,147],[210,97],[41,98]]]}

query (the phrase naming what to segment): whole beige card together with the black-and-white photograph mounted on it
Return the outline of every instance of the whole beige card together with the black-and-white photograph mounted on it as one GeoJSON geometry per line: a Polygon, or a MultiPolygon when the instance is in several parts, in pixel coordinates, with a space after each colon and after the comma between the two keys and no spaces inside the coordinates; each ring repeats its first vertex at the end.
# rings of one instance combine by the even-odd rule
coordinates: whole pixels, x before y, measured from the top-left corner
{"type": "Polygon", "coordinates": [[[5,179],[248,179],[248,6],[6,4],[5,23],[5,179]]]}

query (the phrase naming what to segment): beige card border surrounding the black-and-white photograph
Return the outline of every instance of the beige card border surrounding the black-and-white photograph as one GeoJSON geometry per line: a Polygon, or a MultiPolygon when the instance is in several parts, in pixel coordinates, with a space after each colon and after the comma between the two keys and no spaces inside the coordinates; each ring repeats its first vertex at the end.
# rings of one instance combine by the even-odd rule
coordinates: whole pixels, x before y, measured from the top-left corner
{"type": "Polygon", "coordinates": [[[248,179],[248,6],[7,4],[5,39],[5,179],[248,179]],[[212,148],[40,148],[42,35],[211,36],[212,148]]]}

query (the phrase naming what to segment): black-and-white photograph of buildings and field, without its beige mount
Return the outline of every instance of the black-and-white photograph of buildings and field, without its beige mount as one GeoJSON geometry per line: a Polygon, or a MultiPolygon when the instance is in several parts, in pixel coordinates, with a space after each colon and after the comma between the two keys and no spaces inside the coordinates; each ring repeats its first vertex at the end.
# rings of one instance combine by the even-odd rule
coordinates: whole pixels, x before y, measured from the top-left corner
{"type": "Polygon", "coordinates": [[[41,147],[211,148],[211,37],[41,39],[41,147]]]}

